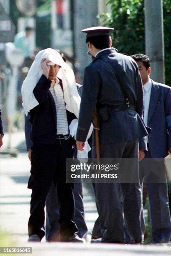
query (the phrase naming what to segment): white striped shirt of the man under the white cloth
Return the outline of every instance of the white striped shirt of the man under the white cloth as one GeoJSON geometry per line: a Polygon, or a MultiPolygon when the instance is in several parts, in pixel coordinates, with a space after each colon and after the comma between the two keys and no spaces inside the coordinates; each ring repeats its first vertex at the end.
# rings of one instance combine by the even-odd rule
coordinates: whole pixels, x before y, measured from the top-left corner
{"type": "Polygon", "coordinates": [[[68,120],[66,115],[64,94],[58,79],[56,80],[55,85],[51,85],[49,90],[54,98],[56,106],[57,134],[66,135],[69,133],[68,120]]]}

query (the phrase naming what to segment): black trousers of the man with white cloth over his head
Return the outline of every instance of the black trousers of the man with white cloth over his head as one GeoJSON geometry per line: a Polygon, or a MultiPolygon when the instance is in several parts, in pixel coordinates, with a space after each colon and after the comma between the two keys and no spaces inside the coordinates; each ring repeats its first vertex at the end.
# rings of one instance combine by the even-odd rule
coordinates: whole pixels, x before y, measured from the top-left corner
{"type": "MultiPolygon", "coordinates": [[[[44,207],[52,182],[57,182],[57,194],[61,205],[60,235],[61,241],[67,241],[77,226],[73,222],[75,205],[72,192],[73,184],[66,184],[66,158],[72,157],[72,138],[56,139],[54,144],[33,143],[31,177],[28,188],[32,189],[28,235],[37,234],[43,238],[45,234],[44,207]]],[[[55,195],[56,196],[56,195],[55,195]]]]}

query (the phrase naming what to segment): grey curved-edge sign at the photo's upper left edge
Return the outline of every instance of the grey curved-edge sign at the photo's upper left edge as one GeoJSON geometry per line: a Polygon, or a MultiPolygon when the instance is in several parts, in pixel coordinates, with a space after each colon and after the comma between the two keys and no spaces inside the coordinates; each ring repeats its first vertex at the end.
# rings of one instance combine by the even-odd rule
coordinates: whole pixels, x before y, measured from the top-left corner
{"type": "Polygon", "coordinates": [[[0,42],[13,42],[15,35],[15,26],[10,16],[5,13],[3,5],[0,3],[0,42]]]}

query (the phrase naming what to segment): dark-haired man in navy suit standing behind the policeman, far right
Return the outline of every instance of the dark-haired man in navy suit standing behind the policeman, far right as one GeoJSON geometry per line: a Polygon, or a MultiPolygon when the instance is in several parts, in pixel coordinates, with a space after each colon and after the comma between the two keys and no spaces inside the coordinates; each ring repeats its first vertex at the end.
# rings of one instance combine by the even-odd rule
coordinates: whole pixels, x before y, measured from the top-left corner
{"type": "Polygon", "coordinates": [[[143,82],[144,122],[152,128],[147,138],[148,152],[145,153],[145,159],[140,162],[140,178],[142,181],[145,180],[148,190],[153,242],[167,243],[171,237],[171,218],[166,169],[160,160],[171,153],[171,87],[150,79],[151,67],[148,56],[135,54],[132,58],[138,64],[143,82]],[[149,159],[151,160],[148,161],[149,159]],[[158,178],[163,179],[163,183],[158,183],[158,178]]]}

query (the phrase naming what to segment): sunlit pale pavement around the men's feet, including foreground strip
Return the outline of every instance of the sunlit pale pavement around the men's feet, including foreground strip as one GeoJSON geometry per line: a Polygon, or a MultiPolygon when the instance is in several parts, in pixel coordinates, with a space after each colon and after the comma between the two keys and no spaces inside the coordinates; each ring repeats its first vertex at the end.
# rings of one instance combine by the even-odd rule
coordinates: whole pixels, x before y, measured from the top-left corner
{"type": "MultiPolygon", "coordinates": [[[[4,148],[7,143],[7,136],[5,137],[4,148]]],[[[20,145],[20,148],[24,150],[24,141],[23,132],[14,133],[11,145],[13,148],[20,145]]],[[[30,162],[26,151],[18,153],[17,158],[0,155],[0,226],[12,234],[16,246],[32,247],[33,256],[171,255],[170,245],[138,246],[89,243],[94,221],[97,218],[97,210],[92,193],[85,187],[84,207],[89,232],[87,244],[46,243],[44,238],[41,243],[27,243],[31,195],[31,190],[27,189],[29,175],[30,162]]]]}

